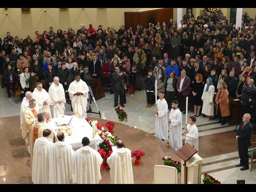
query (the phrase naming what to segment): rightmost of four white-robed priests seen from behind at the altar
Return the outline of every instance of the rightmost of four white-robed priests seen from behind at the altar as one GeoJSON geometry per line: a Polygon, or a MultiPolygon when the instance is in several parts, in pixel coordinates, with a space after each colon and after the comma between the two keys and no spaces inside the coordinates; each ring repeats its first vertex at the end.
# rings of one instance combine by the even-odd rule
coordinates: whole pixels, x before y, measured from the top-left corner
{"type": "Polygon", "coordinates": [[[107,159],[111,184],[133,184],[131,150],[123,148],[122,140],[116,141],[118,150],[107,159]]]}

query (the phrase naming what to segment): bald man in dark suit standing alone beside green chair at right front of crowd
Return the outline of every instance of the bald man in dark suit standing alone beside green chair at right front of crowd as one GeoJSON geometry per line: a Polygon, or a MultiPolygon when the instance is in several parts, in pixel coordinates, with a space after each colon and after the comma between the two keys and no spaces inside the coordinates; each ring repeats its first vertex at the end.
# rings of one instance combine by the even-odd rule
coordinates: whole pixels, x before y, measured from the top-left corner
{"type": "Polygon", "coordinates": [[[240,164],[237,167],[241,167],[240,170],[244,171],[249,169],[248,163],[248,147],[251,145],[250,137],[252,134],[252,124],[250,123],[251,115],[249,113],[244,114],[243,121],[241,122],[239,129],[236,131],[236,140],[238,141],[238,154],[240,157],[240,164]]]}

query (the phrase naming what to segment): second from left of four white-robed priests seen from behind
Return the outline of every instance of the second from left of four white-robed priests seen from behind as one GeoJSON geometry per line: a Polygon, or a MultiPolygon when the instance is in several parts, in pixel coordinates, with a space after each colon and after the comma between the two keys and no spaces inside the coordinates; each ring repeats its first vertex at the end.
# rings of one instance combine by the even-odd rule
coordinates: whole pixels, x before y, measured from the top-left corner
{"type": "Polygon", "coordinates": [[[73,184],[72,156],[74,150],[66,143],[64,132],[57,134],[58,141],[51,146],[49,152],[50,184],[73,184]]]}

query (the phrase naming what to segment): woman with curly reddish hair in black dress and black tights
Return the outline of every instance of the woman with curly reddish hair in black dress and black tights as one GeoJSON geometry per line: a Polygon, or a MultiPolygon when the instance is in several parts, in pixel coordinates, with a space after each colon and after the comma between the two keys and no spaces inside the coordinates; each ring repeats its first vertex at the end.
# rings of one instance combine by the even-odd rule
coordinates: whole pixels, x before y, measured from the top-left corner
{"type": "Polygon", "coordinates": [[[192,84],[192,101],[194,104],[194,116],[198,117],[200,115],[200,109],[203,104],[202,102],[202,94],[204,91],[204,82],[202,82],[203,77],[201,74],[196,74],[195,81],[192,84]]]}

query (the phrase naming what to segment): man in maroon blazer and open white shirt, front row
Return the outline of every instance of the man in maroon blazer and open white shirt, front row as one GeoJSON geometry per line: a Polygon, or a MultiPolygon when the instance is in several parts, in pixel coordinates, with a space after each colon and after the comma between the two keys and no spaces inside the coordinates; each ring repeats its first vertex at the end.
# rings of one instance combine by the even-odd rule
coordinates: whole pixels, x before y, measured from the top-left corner
{"type": "Polygon", "coordinates": [[[180,112],[183,112],[183,114],[186,114],[186,97],[190,94],[189,90],[190,85],[190,78],[186,76],[186,71],[182,70],[180,72],[180,76],[178,78],[177,82],[177,90],[178,90],[178,96],[179,96],[179,103],[180,103],[180,112]]]}

